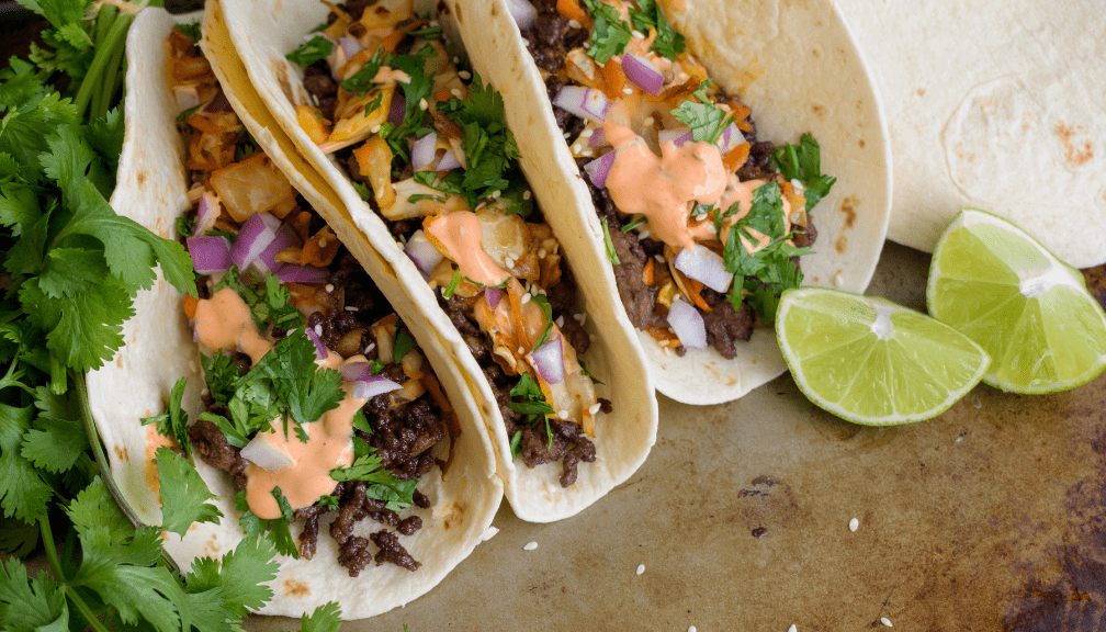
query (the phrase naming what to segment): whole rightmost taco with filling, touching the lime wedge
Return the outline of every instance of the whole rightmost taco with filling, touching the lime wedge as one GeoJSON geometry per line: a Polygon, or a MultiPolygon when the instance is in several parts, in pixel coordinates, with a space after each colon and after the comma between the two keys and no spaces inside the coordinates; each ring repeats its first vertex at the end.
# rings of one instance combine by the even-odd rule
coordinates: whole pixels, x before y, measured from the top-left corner
{"type": "Polygon", "coordinates": [[[890,152],[833,3],[450,6],[473,59],[515,60],[493,76],[509,122],[535,129],[523,167],[562,174],[659,392],[740,397],[786,369],[770,328],[784,289],[867,286],[890,152]]]}

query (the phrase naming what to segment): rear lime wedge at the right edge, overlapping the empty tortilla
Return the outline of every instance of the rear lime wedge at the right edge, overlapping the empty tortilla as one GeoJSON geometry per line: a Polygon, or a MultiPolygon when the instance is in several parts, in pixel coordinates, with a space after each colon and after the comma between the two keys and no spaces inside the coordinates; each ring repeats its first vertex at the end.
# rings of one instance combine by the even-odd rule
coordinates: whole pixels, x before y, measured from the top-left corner
{"type": "Polygon", "coordinates": [[[989,213],[966,208],[945,229],[926,301],[987,350],[983,381],[1003,391],[1064,391],[1106,367],[1106,314],[1083,274],[989,213]]]}

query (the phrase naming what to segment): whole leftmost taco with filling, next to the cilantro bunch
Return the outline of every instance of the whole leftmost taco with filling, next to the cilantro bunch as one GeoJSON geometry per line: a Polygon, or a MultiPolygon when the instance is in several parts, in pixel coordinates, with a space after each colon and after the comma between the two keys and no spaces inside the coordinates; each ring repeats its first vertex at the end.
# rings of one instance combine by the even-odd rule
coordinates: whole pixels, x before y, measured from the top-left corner
{"type": "Polygon", "coordinates": [[[112,204],[187,238],[200,296],[140,293],[126,345],[88,375],[113,478],[129,514],[159,525],[158,448],[191,454],[222,519],[166,531],[165,549],[188,569],[269,538],[281,555],[263,613],[403,605],[491,532],[502,484],[482,412],[398,281],[366,273],[383,267],[361,235],[312,209],[321,178],[269,159],[291,145],[257,94],[220,85],[173,27],[147,10],[131,29],[112,204]]]}

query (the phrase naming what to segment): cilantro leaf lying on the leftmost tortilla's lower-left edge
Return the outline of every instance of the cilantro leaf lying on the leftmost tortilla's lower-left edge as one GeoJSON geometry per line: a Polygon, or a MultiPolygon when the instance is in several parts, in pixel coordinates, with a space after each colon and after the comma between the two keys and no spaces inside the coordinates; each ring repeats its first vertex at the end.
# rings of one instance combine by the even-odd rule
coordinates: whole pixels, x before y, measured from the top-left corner
{"type": "Polygon", "coordinates": [[[181,538],[192,522],[219,522],[222,511],[208,503],[213,496],[196,467],[167,447],[157,449],[161,483],[161,528],[181,538]]]}

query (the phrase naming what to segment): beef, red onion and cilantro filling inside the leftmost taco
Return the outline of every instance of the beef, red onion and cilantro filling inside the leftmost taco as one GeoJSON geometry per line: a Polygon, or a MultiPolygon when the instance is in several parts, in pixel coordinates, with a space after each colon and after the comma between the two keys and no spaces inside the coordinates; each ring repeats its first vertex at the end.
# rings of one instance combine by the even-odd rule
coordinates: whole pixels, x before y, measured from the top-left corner
{"type": "Polygon", "coordinates": [[[192,39],[174,30],[166,46],[195,205],[177,224],[199,274],[185,311],[207,384],[187,433],[163,415],[150,443],[226,470],[240,525],[284,555],[310,559],[331,515],[351,577],[371,561],[415,571],[401,537],[422,518],[404,510],[429,507],[420,477],[449,469],[452,407],[384,296],[252,143],[192,39]],[[365,518],[382,525],[367,538],[355,533],[365,518]]]}

